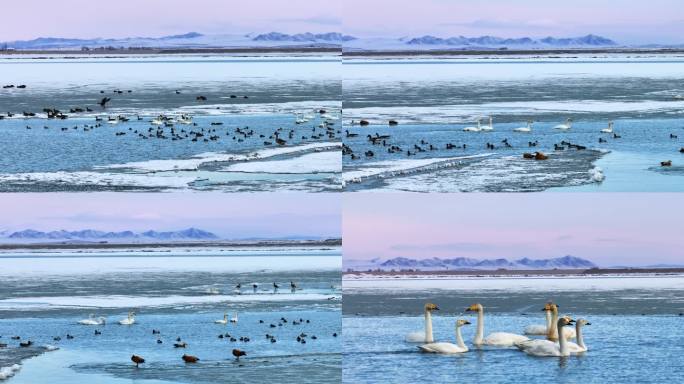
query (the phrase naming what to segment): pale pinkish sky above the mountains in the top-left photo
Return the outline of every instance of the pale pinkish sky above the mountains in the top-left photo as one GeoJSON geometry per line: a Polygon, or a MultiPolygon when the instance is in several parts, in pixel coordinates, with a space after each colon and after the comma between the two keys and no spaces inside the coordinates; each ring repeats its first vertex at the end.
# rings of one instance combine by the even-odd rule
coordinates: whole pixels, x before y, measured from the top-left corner
{"type": "Polygon", "coordinates": [[[341,29],[341,2],[331,0],[10,0],[0,9],[0,41],[341,29]]]}

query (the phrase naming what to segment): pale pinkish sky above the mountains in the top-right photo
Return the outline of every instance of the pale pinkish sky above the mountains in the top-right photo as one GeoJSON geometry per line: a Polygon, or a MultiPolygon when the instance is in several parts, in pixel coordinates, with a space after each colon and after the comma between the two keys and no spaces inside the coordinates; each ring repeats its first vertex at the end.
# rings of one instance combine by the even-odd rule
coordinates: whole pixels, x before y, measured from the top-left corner
{"type": "Polygon", "coordinates": [[[622,43],[684,43],[680,0],[344,0],[357,36],[603,35],[622,43]]]}

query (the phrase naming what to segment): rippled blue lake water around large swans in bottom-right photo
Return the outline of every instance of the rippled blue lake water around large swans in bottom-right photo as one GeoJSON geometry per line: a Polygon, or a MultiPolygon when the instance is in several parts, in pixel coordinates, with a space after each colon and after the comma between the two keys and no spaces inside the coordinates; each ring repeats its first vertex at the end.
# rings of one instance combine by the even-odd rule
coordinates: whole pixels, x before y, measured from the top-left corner
{"type": "Polygon", "coordinates": [[[682,282],[676,275],[345,280],[343,382],[669,382],[684,368],[682,282]],[[477,319],[466,307],[483,304],[485,335],[522,334],[544,324],[540,309],[549,300],[562,315],[591,322],[583,328],[587,352],[532,357],[514,348],[473,347],[477,319]],[[421,353],[404,341],[424,329],[427,302],[440,307],[432,316],[435,341],[455,343],[456,319],[472,323],[462,328],[469,352],[421,353]]]}

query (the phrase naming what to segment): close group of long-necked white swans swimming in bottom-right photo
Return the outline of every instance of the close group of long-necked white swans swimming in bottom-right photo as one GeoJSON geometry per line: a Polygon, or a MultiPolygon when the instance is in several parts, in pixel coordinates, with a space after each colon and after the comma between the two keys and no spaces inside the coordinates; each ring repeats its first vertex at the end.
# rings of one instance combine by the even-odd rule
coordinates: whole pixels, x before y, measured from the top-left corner
{"type": "MultiPolygon", "coordinates": [[[[439,307],[432,303],[425,304],[425,331],[412,332],[406,335],[405,340],[409,343],[421,343],[418,346],[422,352],[429,353],[465,353],[468,346],[461,336],[461,327],[471,324],[465,319],[456,320],[456,344],[449,342],[435,342],[432,332],[432,312],[439,307]]],[[[477,313],[477,329],[472,344],[476,348],[482,346],[497,348],[517,348],[532,356],[569,356],[583,353],[588,350],[584,343],[582,327],[591,325],[586,319],[574,320],[570,316],[559,316],[558,305],[552,302],[546,303],[542,309],[546,314],[546,323],[543,325],[530,325],[523,330],[523,334],[509,332],[493,332],[485,336],[484,332],[484,307],[482,304],[473,304],[465,309],[466,312],[477,313]],[[575,325],[575,329],[567,328],[575,325]],[[531,337],[532,336],[532,337],[531,337]],[[545,336],[544,338],[533,338],[545,336]],[[575,339],[576,342],[570,341],[575,339]]]]}

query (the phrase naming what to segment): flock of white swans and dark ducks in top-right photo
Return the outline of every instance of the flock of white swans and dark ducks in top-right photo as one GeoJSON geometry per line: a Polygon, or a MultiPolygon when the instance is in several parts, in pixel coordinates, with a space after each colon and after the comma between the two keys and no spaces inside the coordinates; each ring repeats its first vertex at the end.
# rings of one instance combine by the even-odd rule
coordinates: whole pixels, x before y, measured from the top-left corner
{"type": "MultiPolygon", "coordinates": [[[[517,128],[513,128],[512,132],[514,133],[531,133],[532,132],[532,125],[533,125],[532,120],[528,120],[527,124],[524,126],[520,126],[517,128]]],[[[568,118],[565,120],[565,123],[555,125],[553,129],[559,130],[559,131],[568,131],[572,129],[572,123],[573,120],[571,118],[568,118]]],[[[389,120],[388,125],[389,126],[396,126],[399,123],[396,120],[389,120]]],[[[370,122],[368,120],[352,120],[351,125],[359,125],[362,127],[366,127],[370,125],[370,122]]],[[[464,132],[492,132],[494,131],[494,122],[493,118],[490,116],[489,117],[489,123],[488,125],[482,125],[480,120],[477,120],[477,124],[474,126],[467,126],[462,129],[464,132]]],[[[599,137],[598,137],[598,142],[599,143],[607,143],[608,139],[620,139],[622,136],[615,132],[614,130],[614,123],[612,121],[608,122],[608,126],[606,128],[603,128],[599,131],[599,137]]],[[[349,130],[345,131],[345,136],[346,138],[352,139],[359,137],[358,133],[353,133],[350,132],[349,130]]],[[[670,139],[677,139],[677,135],[670,133],[669,135],[670,139]]],[[[467,144],[454,144],[454,143],[446,143],[443,145],[437,145],[437,144],[432,144],[429,141],[425,139],[421,139],[419,142],[414,143],[412,146],[409,146],[408,148],[404,147],[402,148],[399,145],[393,144],[390,139],[391,135],[380,135],[377,132],[375,134],[367,134],[366,135],[367,141],[373,145],[373,146],[378,146],[382,147],[383,151],[389,153],[389,154],[405,154],[406,157],[411,157],[411,156],[416,156],[417,154],[421,152],[429,152],[429,151],[437,151],[441,149],[446,149],[446,150],[456,150],[456,149],[467,149],[468,146],[467,144]]],[[[538,141],[527,141],[527,143],[523,143],[522,146],[532,148],[532,147],[537,147],[539,145],[538,141]]],[[[508,138],[504,138],[501,140],[499,144],[497,143],[490,143],[486,142],[485,143],[485,148],[487,150],[496,150],[497,148],[506,148],[506,149],[512,149],[515,148],[513,144],[509,141],[508,138]]],[[[563,140],[559,143],[553,144],[553,151],[563,151],[563,150],[584,150],[587,149],[586,146],[584,145],[579,145],[579,144],[574,144],[569,141],[563,140]]],[[[680,153],[684,153],[684,147],[680,148],[679,150],[680,153]]],[[[347,145],[346,143],[343,145],[343,150],[342,150],[343,156],[349,156],[351,160],[359,160],[361,159],[361,156],[365,156],[366,158],[373,158],[376,155],[376,151],[373,150],[367,150],[365,151],[362,155],[357,154],[354,152],[354,150],[351,148],[351,146],[347,145]]],[[[535,152],[524,152],[523,153],[523,159],[531,159],[531,160],[547,160],[549,157],[546,153],[542,151],[535,151],[535,152]]],[[[666,160],[662,161],[660,163],[661,166],[671,166],[672,161],[671,160],[666,160]]]]}

